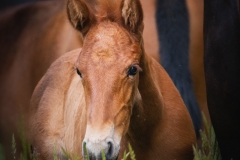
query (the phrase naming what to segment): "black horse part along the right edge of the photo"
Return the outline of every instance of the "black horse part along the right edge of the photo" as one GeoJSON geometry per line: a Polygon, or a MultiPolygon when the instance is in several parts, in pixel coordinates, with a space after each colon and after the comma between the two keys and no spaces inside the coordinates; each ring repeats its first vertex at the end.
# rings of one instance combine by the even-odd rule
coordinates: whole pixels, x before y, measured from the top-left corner
{"type": "Polygon", "coordinates": [[[236,0],[204,1],[207,102],[222,158],[240,159],[240,20],[236,0]]]}

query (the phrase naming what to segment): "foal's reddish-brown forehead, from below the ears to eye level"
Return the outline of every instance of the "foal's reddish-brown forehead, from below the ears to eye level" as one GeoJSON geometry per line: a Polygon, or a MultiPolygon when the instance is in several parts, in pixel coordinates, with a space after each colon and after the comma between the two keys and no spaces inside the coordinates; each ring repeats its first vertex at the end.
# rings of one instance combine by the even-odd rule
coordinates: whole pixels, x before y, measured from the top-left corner
{"type": "MultiPolygon", "coordinates": [[[[126,69],[140,59],[140,45],[125,29],[106,22],[90,29],[78,59],[80,69],[126,69]]],[[[96,70],[95,70],[96,72],[96,70]]]]}

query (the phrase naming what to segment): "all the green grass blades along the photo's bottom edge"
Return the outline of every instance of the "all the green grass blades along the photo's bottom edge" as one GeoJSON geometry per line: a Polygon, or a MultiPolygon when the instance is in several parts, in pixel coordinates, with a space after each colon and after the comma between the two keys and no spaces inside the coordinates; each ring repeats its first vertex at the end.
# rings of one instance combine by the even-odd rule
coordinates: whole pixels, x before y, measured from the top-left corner
{"type": "MultiPolygon", "coordinates": [[[[194,152],[194,159],[193,160],[221,160],[220,151],[218,148],[218,143],[216,141],[214,129],[209,123],[207,122],[206,117],[203,115],[203,122],[204,122],[204,131],[200,131],[200,137],[201,137],[201,146],[194,145],[193,146],[193,152],[194,152]]],[[[24,131],[24,129],[22,130],[24,131]]],[[[34,155],[30,154],[30,145],[27,143],[25,139],[24,132],[20,132],[21,136],[21,143],[23,152],[20,154],[20,160],[37,160],[37,158],[34,155]],[[31,155],[31,156],[29,156],[31,155]]],[[[62,148],[62,151],[65,155],[65,157],[68,160],[82,160],[76,155],[70,155],[66,152],[64,148],[62,148]]],[[[16,141],[14,135],[12,135],[12,156],[13,159],[16,158],[16,141]]],[[[86,157],[84,160],[89,160],[89,155],[86,149],[86,145],[84,145],[84,153],[86,153],[86,157]]],[[[106,160],[105,153],[102,151],[101,153],[102,159],[106,160]]],[[[130,158],[131,160],[136,160],[135,153],[131,147],[131,145],[128,145],[128,152],[124,152],[124,155],[120,160],[127,160],[130,158]]],[[[0,160],[6,160],[4,157],[4,150],[3,146],[0,144],[0,160]]],[[[56,153],[56,146],[54,145],[54,154],[53,154],[53,160],[58,160],[57,153],[56,153]]]]}

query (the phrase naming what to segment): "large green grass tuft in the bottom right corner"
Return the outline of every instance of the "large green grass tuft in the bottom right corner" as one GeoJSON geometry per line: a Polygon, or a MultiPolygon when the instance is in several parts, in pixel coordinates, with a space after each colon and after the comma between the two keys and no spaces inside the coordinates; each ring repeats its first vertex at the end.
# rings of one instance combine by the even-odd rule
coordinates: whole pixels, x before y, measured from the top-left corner
{"type": "Polygon", "coordinates": [[[193,146],[194,160],[221,160],[220,150],[218,148],[217,139],[214,129],[202,114],[204,131],[200,131],[202,145],[193,146]]]}

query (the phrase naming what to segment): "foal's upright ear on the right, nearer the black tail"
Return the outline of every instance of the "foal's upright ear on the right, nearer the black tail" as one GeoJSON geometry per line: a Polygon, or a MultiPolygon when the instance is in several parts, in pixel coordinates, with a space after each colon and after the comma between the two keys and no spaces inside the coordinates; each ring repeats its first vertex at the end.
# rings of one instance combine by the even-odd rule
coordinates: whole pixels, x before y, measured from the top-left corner
{"type": "Polygon", "coordinates": [[[143,31],[143,11],[139,0],[122,0],[122,17],[125,27],[133,33],[143,31]]]}

